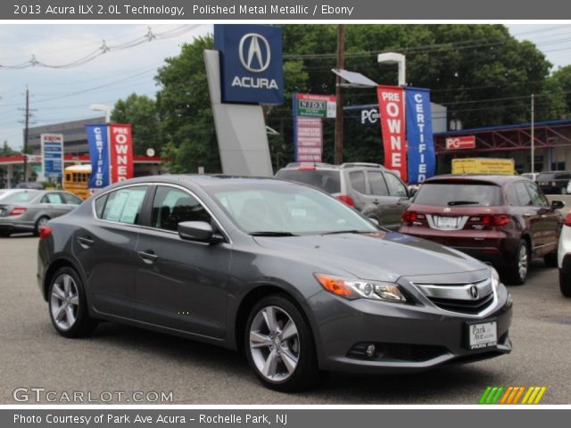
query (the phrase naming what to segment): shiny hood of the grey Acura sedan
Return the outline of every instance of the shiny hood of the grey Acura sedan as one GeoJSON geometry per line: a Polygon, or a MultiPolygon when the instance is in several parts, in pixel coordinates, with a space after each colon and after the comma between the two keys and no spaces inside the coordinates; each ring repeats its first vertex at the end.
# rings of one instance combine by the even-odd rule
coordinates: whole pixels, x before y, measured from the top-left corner
{"type": "Polygon", "coordinates": [[[484,263],[460,251],[394,232],[257,236],[255,241],[268,250],[313,261],[319,267],[341,269],[361,279],[394,282],[401,276],[441,276],[487,269],[484,263]]]}

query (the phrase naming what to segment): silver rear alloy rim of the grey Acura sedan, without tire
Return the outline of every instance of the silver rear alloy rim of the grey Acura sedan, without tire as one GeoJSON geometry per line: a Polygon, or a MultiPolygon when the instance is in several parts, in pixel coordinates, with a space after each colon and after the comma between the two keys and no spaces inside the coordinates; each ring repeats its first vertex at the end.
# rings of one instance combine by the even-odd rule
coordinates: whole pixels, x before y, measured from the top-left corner
{"type": "Polygon", "coordinates": [[[52,286],[50,309],[54,323],[61,330],[69,330],[78,318],[78,286],[68,274],[58,276],[52,286]]]}

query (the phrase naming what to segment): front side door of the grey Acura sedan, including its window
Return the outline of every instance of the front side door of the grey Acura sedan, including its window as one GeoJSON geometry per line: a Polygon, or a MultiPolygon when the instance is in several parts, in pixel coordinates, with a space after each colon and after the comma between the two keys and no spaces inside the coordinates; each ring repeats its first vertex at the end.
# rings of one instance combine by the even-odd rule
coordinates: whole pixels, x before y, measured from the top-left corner
{"type": "Polygon", "coordinates": [[[137,243],[137,319],[222,338],[231,245],[183,240],[178,236],[181,221],[216,225],[194,194],[157,185],[149,225],[137,243]]]}

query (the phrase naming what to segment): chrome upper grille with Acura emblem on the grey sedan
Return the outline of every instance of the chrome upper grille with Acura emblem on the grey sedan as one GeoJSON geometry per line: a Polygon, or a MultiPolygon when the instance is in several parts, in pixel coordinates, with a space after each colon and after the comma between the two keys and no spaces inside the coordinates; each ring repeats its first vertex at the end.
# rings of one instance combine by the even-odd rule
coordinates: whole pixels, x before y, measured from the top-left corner
{"type": "Polygon", "coordinates": [[[495,299],[491,278],[463,284],[412,284],[432,301],[434,306],[460,314],[482,314],[495,299]]]}

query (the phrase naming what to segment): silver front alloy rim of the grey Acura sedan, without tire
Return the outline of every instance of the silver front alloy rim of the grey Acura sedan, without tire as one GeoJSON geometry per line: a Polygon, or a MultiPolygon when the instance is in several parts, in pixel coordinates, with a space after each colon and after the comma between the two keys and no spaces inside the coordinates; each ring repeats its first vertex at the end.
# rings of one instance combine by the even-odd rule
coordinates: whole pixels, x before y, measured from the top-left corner
{"type": "Polygon", "coordinates": [[[300,358],[297,326],[284,309],[262,308],[250,326],[250,352],[260,374],[270,382],[284,382],[295,371],[300,358]]]}

